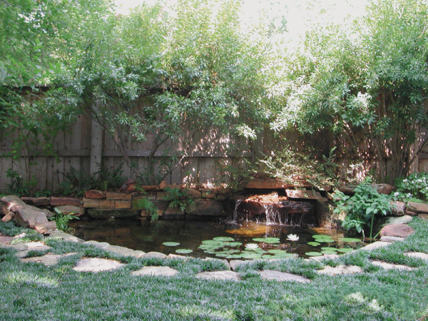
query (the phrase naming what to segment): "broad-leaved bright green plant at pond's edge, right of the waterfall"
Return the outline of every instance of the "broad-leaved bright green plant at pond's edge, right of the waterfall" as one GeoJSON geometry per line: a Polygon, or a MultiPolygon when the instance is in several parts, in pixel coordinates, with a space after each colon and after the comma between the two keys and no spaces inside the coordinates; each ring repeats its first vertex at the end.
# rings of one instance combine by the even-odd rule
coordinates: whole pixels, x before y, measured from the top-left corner
{"type": "Polygon", "coordinates": [[[335,192],[337,208],[334,213],[344,211],[347,216],[342,226],[347,230],[355,229],[363,236],[364,225],[370,226],[370,238],[372,238],[374,215],[387,215],[391,212],[392,205],[389,195],[377,193],[377,190],[369,185],[370,183],[370,180],[365,180],[358,185],[352,197],[337,190],[335,192]]]}

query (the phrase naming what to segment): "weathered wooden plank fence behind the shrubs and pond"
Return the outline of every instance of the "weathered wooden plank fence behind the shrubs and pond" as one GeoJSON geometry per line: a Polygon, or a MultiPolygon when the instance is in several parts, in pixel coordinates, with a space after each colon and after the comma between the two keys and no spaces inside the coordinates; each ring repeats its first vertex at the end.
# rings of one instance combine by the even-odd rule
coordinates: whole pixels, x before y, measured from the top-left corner
{"type": "MultiPolygon", "coordinates": [[[[30,102],[36,99],[34,96],[27,96],[30,102]]],[[[57,190],[64,181],[64,174],[74,170],[82,175],[91,175],[94,173],[98,164],[103,162],[108,170],[113,170],[121,164],[124,164],[123,156],[113,143],[113,139],[102,130],[101,126],[91,119],[91,116],[78,116],[76,123],[67,133],[61,133],[54,140],[54,150],[58,155],[58,161],[51,156],[43,156],[37,150],[29,155],[30,157],[21,158],[19,161],[13,161],[11,157],[3,156],[0,158],[0,189],[11,183],[11,178],[6,177],[6,170],[11,168],[16,170],[25,179],[26,161],[31,161],[31,173],[37,181],[37,187],[40,190],[57,190]]],[[[16,133],[17,134],[17,133],[16,133]]],[[[138,171],[144,173],[147,170],[148,155],[153,146],[154,134],[148,135],[147,140],[142,143],[128,143],[128,155],[131,161],[136,163],[138,171]]],[[[420,133],[422,140],[426,136],[426,131],[420,133]]],[[[327,135],[320,134],[310,138],[290,134],[281,141],[275,141],[269,131],[260,133],[258,139],[249,143],[244,138],[231,138],[224,136],[213,128],[207,126],[204,131],[199,131],[193,136],[193,140],[188,149],[188,157],[170,175],[166,180],[168,183],[215,183],[224,175],[223,169],[219,164],[244,163],[244,160],[255,161],[262,154],[270,155],[272,146],[287,145],[297,148],[305,147],[309,142],[319,153],[315,157],[325,153],[332,146],[342,146],[342,151],[337,155],[337,163],[340,164],[340,175],[346,175],[352,172],[353,176],[364,176],[370,168],[378,167],[379,160],[370,158],[353,159],[345,156],[343,152],[343,141],[334,141],[327,135]],[[360,163],[359,167],[352,168],[352,164],[360,163]]],[[[161,167],[165,156],[170,155],[170,151],[180,149],[178,144],[165,143],[156,153],[155,169],[161,167]]],[[[340,150],[340,148],[339,148],[340,150]]],[[[11,151],[11,142],[1,139],[0,153],[5,154],[11,151]]],[[[22,152],[25,155],[24,151],[22,152]]],[[[389,164],[389,160],[380,160],[389,164]]],[[[412,172],[428,171],[428,148],[421,153],[411,169],[412,172]]],[[[135,178],[131,170],[123,165],[123,180],[126,178],[135,178]]]]}

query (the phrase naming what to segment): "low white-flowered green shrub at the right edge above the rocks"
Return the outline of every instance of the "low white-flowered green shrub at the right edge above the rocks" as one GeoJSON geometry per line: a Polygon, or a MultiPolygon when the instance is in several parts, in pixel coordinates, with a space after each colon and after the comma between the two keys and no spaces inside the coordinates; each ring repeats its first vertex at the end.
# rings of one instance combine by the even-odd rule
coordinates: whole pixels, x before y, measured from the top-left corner
{"type": "Polygon", "coordinates": [[[414,201],[413,198],[428,200],[428,173],[414,173],[407,178],[397,180],[397,192],[394,200],[414,201]]]}

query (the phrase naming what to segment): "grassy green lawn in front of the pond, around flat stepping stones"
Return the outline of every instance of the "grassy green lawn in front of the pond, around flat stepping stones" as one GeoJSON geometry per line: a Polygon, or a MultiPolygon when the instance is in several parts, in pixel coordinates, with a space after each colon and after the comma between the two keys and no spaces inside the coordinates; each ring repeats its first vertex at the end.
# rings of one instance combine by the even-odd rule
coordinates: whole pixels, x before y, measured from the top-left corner
{"type": "MultiPolygon", "coordinates": [[[[0,320],[427,320],[428,266],[406,251],[428,253],[428,221],[388,248],[355,251],[317,263],[300,258],[253,261],[238,272],[242,281],[198,280],[195,273],[224,270],[221,261],[144,259],[114,255],[88,245],[45,238],[51,253],[74,252],[57,265],[20,263],[14,250],[0,250],[0,320]],[[127,263],[113,272],[75,272],[79,258],[113,258],[127,263]],[[383,270],[370,260],[417,267],[383,270]],[[358,265],[355,275],[317,275],[323,265],[358,265]],[[168,265],[175,277],[141,277],[145,265],[168,265]],[[258,270],[275,269],[309,277],[310,283],[261,280],[258,270]]],[[[4,235],[22,229],[1,223],[4,235]]],[[[40,238],[29,235],[25,240],[40,238]]],[[[33,251],[31,255],[42,255],[33,251]]]]}

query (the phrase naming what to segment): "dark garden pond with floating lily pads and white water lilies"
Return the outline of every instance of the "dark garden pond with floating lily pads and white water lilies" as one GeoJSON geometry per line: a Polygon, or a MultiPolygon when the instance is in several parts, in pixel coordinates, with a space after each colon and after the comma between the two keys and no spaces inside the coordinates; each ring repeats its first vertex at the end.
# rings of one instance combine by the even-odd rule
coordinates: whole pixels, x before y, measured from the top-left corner
{"type": "Polygon", "coordinates": [[[322,253],[341,254],[364,245],[360,240],[345,238],[337,229],[295,228],[255,222],[128,219],[75,220],[70,225],[74,229],[73,234],[83,240],[107,242],[146,253],[155,251],[168,255],[181,252],[195,258],[287,258],[293,255],[307,258],[322,253]],[[293,240],[290,235],[296,235],[298,240],[293,240]]]}

